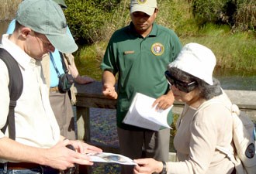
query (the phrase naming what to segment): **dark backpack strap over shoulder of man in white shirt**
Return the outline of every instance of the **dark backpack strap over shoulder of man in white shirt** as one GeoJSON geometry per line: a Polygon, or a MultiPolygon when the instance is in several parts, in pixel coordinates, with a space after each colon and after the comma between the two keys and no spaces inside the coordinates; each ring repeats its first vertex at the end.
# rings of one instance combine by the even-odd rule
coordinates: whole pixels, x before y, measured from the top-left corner
{"type": "Polygon", "coordinates": [[[19,69],[19,65],[16,60],[5,49],[0,48],[0,59],[6,64],[9,71],[9,113],[5,126],[1,129],[2,132],[6,131],[9,125],[9,138],[15,140],[16,128],[15,128],[15,116],[14,109],[16,107],[16,101],[19,99],[23,90],[22,73],[19,69]]]}

